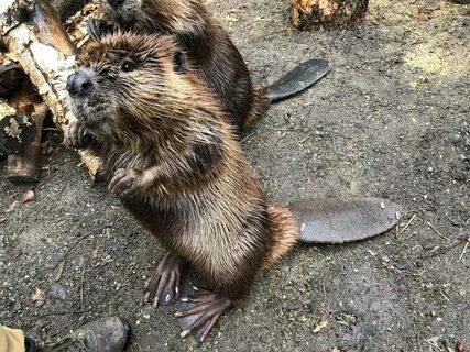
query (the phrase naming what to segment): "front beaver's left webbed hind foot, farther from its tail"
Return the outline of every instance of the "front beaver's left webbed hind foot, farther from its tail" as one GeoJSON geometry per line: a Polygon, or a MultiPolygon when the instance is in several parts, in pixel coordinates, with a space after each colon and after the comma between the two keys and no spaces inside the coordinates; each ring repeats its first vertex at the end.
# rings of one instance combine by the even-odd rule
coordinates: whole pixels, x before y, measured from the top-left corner
{"type": "Polygon", "coordinates": [[[179,298],[179,278],[183,271],[183,258],[174,253],[167,253],[160,262],[159,267],[145,284],[145,302],[153,299],[156,308],[159,302],[171,305],[179,298]]]}

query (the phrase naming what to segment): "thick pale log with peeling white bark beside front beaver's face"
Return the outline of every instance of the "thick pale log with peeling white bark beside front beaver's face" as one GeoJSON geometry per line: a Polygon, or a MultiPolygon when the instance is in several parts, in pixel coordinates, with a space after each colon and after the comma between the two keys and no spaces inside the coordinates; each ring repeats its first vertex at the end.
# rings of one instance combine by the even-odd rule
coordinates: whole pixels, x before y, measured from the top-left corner
{"type": "Polygon", "coordinates": [[[76,48],[61,22],[56,22],[58,15],[47,16],[52,8],[50,3],[44,0],[36,2],[36,30],[17,21],[15,3],[15,0],[1,0],[0,4],[0,34],[7,46],[6,55],[24,69],[51,108],[54,121],[64,129],[75,119],[65,106],[65,85],[74,70],[76,48]]]}

